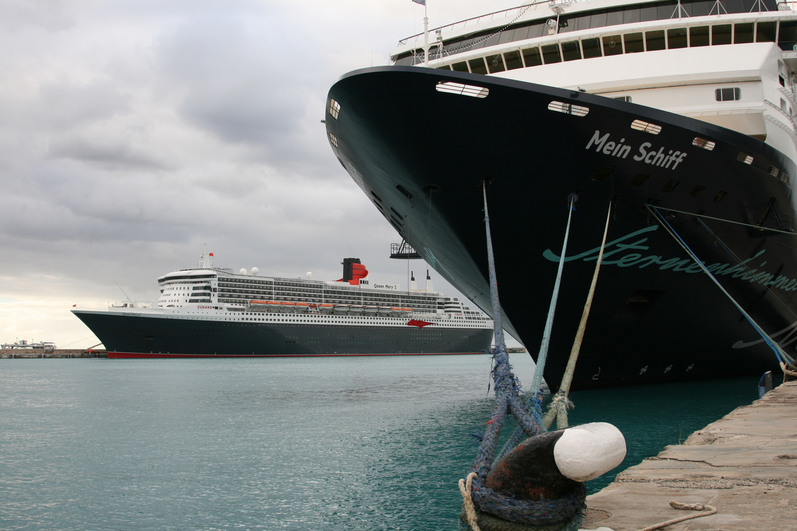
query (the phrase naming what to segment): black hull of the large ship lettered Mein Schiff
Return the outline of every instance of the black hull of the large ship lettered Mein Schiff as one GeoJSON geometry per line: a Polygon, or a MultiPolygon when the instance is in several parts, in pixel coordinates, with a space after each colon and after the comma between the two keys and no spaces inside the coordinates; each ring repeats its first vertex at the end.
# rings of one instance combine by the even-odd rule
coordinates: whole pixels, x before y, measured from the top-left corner
{"type": "MultiPolygon", "coordinates": [[[[795,163],[771,146],[624,101],[431,68],[351,72],[332,86],[329,98],[340,104],[337,117],[327,108],[330,144],[351,178],[438,273],[489,314],[481,182],[492,179],[488,197],[505,329],[535,358],[567,196],[578,193],[544,371],[552,389],[567,363],[612,199],[573,388],[779,370],[756,330],[646,209],[650,203],[665,213],[677,209],[757,225],[765,215],[772,219],[774,200],[779,216],[791,219],[791,184],[781,178],[795,175],[795,163]],[[442,83],[489,92],[441,92],[442,83]],[[661,131],[634,129],[634,120],[661,131]]],[[[695,220],[667,215],[728,292],[793,355],[795,236],[706,221],[780,305],[695,220]]]]}

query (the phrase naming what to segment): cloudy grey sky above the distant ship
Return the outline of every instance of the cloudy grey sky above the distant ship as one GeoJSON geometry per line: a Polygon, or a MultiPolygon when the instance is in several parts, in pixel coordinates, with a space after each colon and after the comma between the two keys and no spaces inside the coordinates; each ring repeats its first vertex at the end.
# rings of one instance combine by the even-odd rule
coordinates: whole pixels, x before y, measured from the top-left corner
{"type": "MultiPolygon", "coordinates": [[[[429,0],[430,27],[516,3],[429,0]]],[[[0,1],[0,342],[93,345],[73,304],[124,299],[115,281],[153,300],[202,244],[326,280],[355,256],[406,287],[320,119],[338,76],[387,64],[422,18],[410,0],[0,1]]]]}

